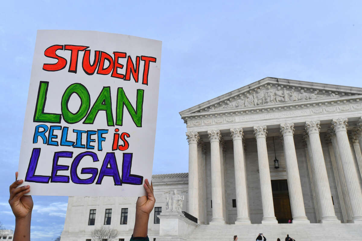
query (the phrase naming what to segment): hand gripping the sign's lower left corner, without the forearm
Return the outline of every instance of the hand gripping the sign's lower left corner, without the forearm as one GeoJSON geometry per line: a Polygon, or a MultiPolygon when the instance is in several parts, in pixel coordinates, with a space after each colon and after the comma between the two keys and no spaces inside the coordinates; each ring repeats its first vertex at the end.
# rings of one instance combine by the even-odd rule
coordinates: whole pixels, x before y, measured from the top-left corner
{"type": "Polygon", "coordinates": [[[18,185],[22,184],[23,180],[17,180],[18,179],[18,172],[15,173],[16,181],[13,182],[13,184],[10,185],[10,198],[9,198],[9,204],[11,209],[13,210],[13,214],[15,215],[15,218],[22,219],[25,218],[29,213],[31,213],[31,210],[33,210],[33,199],[30,195],[25,195],[26,193],[29,193],[30,186],[21,186],[18,187],[18,185]]]}

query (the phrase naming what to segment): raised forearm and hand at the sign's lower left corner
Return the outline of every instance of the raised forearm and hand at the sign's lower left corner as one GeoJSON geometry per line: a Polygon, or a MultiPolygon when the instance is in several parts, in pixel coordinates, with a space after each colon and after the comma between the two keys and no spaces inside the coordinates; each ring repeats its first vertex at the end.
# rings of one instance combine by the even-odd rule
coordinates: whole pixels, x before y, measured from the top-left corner
{"type": "Polygon", "coordinates": [[[33,210],[33,199],[29,195],[30,186],[18,185],[23,183],[23,180],[18,179],[18,172],[15,173],[16,181],[10,185],[9,204],[15,215],[15,231],[14,241],[30,241],[30,221],[31,210],[33,210]]]}

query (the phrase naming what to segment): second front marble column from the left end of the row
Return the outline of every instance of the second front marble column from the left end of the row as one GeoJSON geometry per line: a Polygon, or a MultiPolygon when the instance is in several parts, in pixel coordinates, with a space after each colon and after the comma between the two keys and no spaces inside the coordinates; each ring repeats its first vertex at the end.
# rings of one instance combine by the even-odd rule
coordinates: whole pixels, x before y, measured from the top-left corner
{"type": "Polygon", "coordinates": [[[210,224],[225,224],[221,186],[220,130],[207,131],[211,146],[211,198],[212,218],[210,224]]]}

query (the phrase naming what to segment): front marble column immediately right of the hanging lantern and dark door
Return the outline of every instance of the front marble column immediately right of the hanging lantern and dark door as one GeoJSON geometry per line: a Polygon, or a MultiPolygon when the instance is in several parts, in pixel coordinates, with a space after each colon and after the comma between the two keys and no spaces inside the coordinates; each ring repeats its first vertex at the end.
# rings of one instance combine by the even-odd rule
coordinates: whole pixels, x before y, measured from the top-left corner
{"type": "Polygon", "coordinates": [[[280,132],[283,135],[283,149],[293,223],[310,223],[306,216],[302,185],[300,184],[298,161],[296,159],[293,138],[294,123],[280,124],[280,132]]]}

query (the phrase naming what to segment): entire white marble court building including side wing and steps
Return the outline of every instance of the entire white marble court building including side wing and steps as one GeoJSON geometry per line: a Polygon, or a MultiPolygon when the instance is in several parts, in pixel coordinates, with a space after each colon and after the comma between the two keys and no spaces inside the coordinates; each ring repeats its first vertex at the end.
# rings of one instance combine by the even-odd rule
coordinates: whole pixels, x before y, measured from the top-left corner
{"type": "MultiPolygon", "coordinates": [[[[271,239],[289,233],[298,241],[362,240],[362,88],[267,77],[180,115],[189,173],[156,175],[155,207],[166,210],[165,193],[178,189],[183,211],[197,224],[164,213],[155,224],[152,212],[152,238],[251,240],[262,232],[271,239]]],[[[70,197],[62,241],[73,240],[72,225],[82,226],[79,238],[86,236],[90,209],[101,212],[102,224],[104,203],[85,198],[70,197]],[[87,218],[75,223],[76,198],[87,218]]],[[[107,202],[108,209],[135,207],[135,199],[107,202]]]]}

